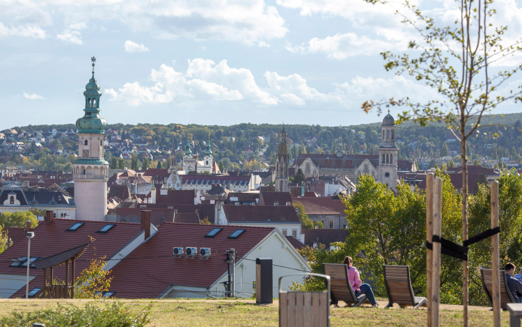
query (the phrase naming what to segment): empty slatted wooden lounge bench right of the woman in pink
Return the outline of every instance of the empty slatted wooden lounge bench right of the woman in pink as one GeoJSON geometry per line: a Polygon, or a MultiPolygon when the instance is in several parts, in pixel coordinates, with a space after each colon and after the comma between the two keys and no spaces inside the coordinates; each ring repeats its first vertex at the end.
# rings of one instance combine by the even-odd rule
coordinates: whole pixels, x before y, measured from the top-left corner
{"type": "Polygon", "coordinates": [[[383,265],[384,285],[388,294],[388,304],[385,308],[393,307],[397,303],[401,308],[412,306],[418,309],[422,305],[427,306],[427,299],[422,296],[415,296],[411,287],[410,267],[409,266],[390,266],[383,265]]]}

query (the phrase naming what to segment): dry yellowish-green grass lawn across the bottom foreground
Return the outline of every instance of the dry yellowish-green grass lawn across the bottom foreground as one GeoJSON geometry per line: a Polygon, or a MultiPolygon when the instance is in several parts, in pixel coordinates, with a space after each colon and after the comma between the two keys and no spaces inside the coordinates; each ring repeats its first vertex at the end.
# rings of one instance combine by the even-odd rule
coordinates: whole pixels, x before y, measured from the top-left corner
{"type": "MultiPolygon", "coordinates": [[[[92,300],[0,300],[0,315],[52,308],[56,302],[82,305],[92,300]]],[[[104,300],[113,301],[113,300],[104,300]]],[[[255,305],[252,300],[122,300],[138,312],[152,303],[150,326],[278,326],[278,303],[255,305]]],[[[426,326],[426,310],[392,308],[332,308],[331,326],[426,326]]],[[[462,307],[442,305],[441,326],[462,326],[462,307]]],[[[470,326],[493,326],[489,308],[470,307],[470,326]]],[[[509,326],[509,313],[502,313],[509,326]]]]}

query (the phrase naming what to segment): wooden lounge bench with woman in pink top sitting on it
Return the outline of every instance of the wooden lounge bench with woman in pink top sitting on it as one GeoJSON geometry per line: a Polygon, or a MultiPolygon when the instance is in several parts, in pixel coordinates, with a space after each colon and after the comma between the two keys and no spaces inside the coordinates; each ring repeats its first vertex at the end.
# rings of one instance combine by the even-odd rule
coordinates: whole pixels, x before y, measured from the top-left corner
{"type": "Polygon", "coordinates": [[[352,307],[358,307],[367,301],[366,295],[355,296],[348,278],[347,264],[323,264],[324,274],[331,279],[331,299],[343,301],[352,307]]]}

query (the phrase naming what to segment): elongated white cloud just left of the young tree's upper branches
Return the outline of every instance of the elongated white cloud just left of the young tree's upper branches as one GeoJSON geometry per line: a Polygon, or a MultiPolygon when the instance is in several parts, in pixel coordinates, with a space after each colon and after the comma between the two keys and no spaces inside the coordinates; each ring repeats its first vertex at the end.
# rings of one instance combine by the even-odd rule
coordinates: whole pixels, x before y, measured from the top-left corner
{"type": "Polygon", "coordinates": [[[294,53],[326,54],[338,60],[352,56],[370,56],[395,48],[395,44],[381,40],[372,40],[356,33],[335,34],[324,39],[313,38],[300,46],[287,44],[286,49],[294,53]]]}

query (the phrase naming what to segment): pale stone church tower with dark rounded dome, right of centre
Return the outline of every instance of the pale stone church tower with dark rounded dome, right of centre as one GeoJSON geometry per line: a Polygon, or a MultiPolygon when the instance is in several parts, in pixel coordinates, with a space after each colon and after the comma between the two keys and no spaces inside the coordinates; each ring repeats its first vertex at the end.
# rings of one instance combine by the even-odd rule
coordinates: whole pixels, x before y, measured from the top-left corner
{"type": "Polygon", "coordinates": [[[390,115],[384,117],[381,125],[381,145],[379,146],[379,167],[377,181],[386,184],[390,189],[397,185],[397,143],[395,142],[395,119],[390,115]]]}

